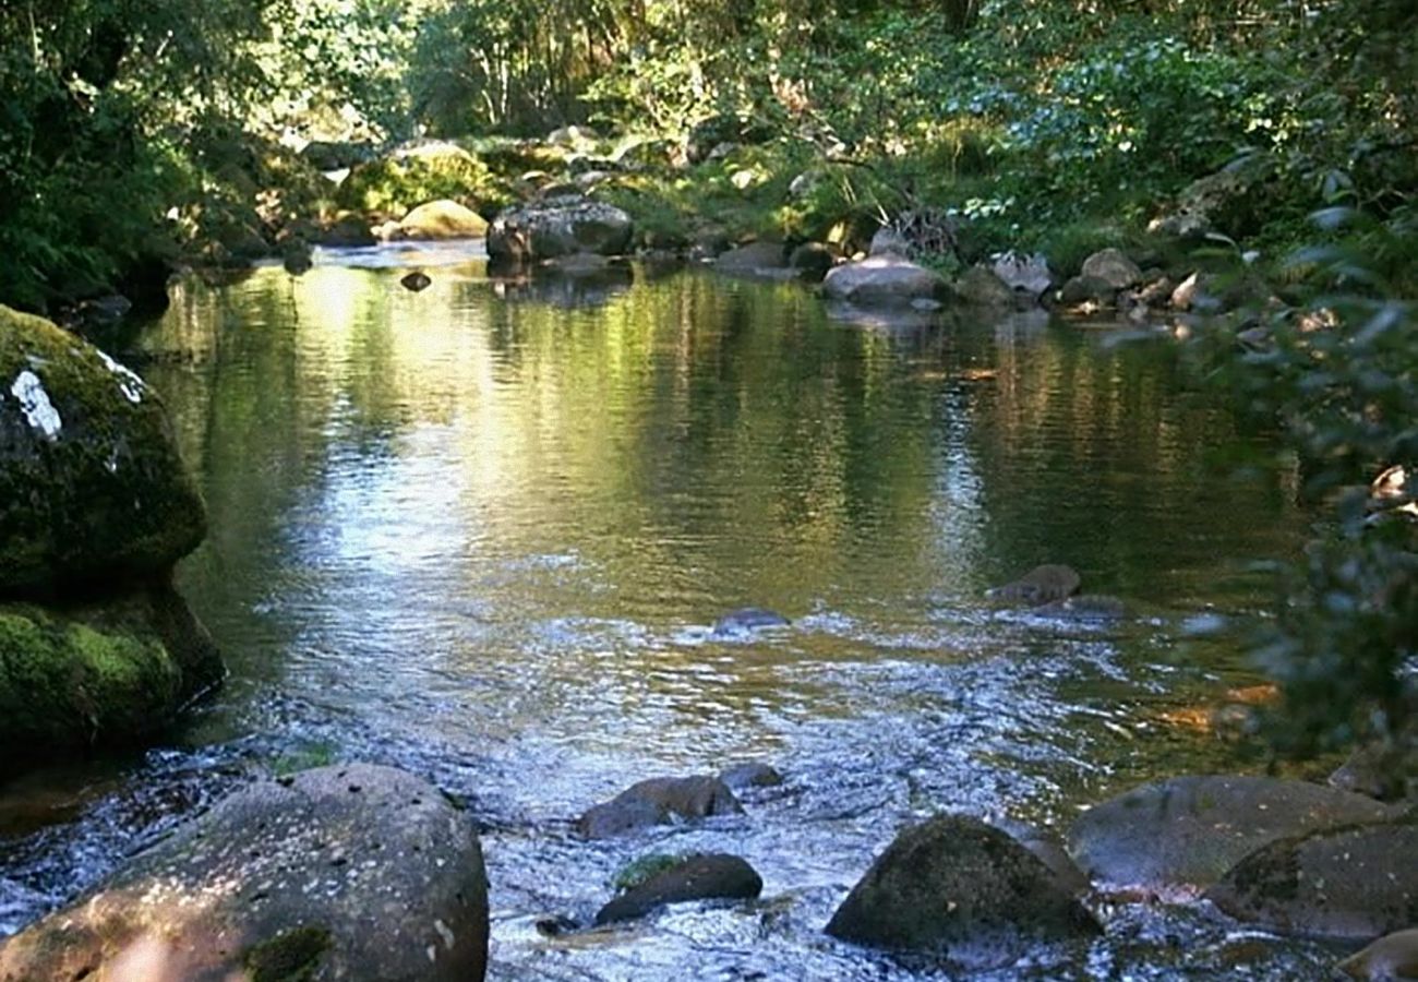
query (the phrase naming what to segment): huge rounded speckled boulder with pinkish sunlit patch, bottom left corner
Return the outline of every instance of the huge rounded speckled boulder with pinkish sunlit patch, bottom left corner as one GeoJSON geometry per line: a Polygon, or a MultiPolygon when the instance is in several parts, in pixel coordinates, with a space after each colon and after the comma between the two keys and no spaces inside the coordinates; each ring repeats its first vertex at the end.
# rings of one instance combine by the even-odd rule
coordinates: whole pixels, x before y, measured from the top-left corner
{"type": "Polygon", "coordinates": [[[235,792],[0,947],[0,979],[482,979],[469,819],[391,768],[235,792]]]}

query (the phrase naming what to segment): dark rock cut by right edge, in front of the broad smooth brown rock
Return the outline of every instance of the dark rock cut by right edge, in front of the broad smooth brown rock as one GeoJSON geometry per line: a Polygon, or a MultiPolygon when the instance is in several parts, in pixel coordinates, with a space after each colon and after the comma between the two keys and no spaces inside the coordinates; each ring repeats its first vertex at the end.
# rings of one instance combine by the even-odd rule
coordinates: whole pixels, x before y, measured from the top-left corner
{"type": "Polygon", "coordinates": [[[1207,900],[1283,934],[1370,941],[1401,931],[1418,918],[1418,817],[1272,842],[1207,900]]]}

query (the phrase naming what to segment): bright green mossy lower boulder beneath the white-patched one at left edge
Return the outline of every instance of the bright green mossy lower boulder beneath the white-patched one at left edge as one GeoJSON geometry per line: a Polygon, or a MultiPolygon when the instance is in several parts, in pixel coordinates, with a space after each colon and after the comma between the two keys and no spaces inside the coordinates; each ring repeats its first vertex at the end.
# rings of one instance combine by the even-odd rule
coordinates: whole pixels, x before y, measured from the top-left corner
{"type": "Polygon", "coordinates": [[[150,736],[224,673],[169,586],[62,610],[0,603],[0,746],[16,748],[0,776],[150,736]]]}

